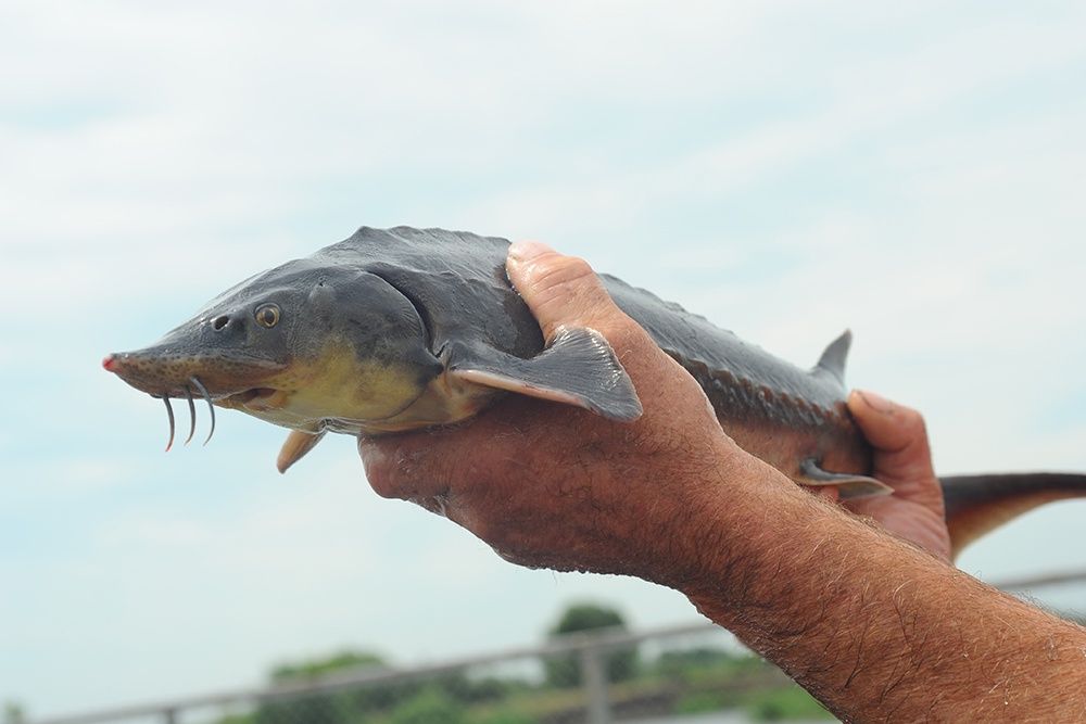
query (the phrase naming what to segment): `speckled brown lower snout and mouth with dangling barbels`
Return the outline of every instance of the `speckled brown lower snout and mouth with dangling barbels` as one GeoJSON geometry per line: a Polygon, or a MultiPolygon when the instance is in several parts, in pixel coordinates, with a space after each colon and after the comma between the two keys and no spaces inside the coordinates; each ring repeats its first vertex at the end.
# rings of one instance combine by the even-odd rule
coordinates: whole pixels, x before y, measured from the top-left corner
{"type": "Polygon", "coordinates": [[[106,355],[102,367],[122,380],[163,401],[169,422],[169,437],[166,452],[174,446],[176,420],[171,398],[185,399],[189,408],[188,445],[197,430],[195,396],[207,403],[211,430],[203,444],[215,434],[215,405],[231,408],[263,410],[274,407],[278,390],[266,386],[251,386],[286,368],[286,365],[254,359],[220,359],[193,357],[178,354],[163,354],[160,351],[125,352],[106,355]],[[243,378],[250,378],[241,382],[243,378]],[[255,379],[254,379],[255,378],[255,379]]]}

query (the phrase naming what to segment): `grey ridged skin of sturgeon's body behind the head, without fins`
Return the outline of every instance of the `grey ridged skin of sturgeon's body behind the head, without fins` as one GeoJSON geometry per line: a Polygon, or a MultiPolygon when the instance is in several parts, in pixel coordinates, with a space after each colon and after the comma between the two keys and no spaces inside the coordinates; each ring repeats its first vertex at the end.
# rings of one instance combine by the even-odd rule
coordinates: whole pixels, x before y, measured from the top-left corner
{"type": "MultiPolygon", "coordinates": [[[[365,268],[415,303],[435,354],[451,340],[481,336],[529,358],[543,348],[543,338],[509,288],[508,246],[506,239],[460,231],[363,227],[320,254],[383,257],[365,268]]],[[[646,290],[601,278],[615,303],[697,380],[721,427],[745,449],[800,482],[807,482],[798,469],[806,458],[833,472],[870,473],[871,450],[845,409],[842,380],[791,365],[646,290]]]]}

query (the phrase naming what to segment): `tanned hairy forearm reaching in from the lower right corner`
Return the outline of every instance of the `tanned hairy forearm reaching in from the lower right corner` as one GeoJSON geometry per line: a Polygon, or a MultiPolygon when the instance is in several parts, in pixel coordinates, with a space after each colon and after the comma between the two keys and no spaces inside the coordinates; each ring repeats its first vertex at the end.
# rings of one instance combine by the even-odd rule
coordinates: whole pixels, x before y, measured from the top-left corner
{"type": "Polygon", "coordinates": [[[681,587],[843,720],[1086,719],[1086,630],[747,468],[758,495],[692,521],[724,552],[681,587]]]}

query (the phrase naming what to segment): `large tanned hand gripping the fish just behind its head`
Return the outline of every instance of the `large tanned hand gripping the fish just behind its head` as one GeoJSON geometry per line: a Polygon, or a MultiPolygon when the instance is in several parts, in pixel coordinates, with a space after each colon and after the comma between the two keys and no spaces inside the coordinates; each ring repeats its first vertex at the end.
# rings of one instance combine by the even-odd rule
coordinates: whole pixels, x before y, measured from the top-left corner
{"type": "Polygon", "coordinates": [[[691,524],[692,511],[760,495],[746,470],[763,463],[723,434],[694,379],[615,306],[583,261],[518,244],[508,274],[546,339],[563,325],[607,338],[643,417],[616,424],[510,395],[460,428],[359,439],[370,484],[523,566],[681,585],[724,548],[721,531],[691,524]]]}

